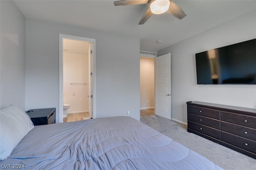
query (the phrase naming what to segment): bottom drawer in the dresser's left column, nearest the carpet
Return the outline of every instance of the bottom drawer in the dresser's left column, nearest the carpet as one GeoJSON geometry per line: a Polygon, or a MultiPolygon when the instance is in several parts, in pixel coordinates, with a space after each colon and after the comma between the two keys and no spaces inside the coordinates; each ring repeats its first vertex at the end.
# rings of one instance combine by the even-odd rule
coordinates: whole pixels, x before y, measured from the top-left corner
{"type": "Polygon", "coordinates": [[[208,136],[212,136],[214,138],[220,139],[220,130],[207,127],[198,123],[194,123],[192,121],[188,121],[188,128],[196,130],[203,134],[207,134],[208,136]]]}

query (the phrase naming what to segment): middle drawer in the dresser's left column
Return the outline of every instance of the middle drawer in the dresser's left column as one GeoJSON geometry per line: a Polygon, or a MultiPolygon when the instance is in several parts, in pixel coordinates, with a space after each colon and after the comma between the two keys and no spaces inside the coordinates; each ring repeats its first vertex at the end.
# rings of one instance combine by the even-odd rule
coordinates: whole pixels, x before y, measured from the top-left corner
{"type": "Polygon", "coordinates": [[[192,113],[188,113],[188,121],[193,121],[193,122],[220,130],[220,121],[216,119],[210,119],[200,115],[194,115],[192,113]]]}

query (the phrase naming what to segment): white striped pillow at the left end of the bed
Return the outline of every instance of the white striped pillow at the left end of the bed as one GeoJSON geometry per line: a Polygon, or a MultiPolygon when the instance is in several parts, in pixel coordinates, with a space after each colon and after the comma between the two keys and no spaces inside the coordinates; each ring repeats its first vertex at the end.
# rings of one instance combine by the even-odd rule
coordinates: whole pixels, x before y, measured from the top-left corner
{"type": "Polygon", "coordinates": [[[30,117],[15,106],[0,110],[0,160],[6,159],[34,125],[30,117]]]}

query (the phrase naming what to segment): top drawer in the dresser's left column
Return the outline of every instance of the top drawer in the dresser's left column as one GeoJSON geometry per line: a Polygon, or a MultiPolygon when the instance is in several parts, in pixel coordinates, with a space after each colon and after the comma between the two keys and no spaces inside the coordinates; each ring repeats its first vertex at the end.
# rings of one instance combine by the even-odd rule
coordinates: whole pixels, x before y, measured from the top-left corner
{"type": "Polygon", "coordinates": [[[220,111],[188,105],[188,112],[220,120],[220,111]]]}

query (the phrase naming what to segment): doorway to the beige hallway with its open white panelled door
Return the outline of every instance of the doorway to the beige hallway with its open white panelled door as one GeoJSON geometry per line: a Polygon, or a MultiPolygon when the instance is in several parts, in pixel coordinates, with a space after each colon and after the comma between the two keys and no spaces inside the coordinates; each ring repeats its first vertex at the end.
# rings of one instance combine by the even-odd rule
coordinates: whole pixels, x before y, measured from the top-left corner
{"type": "Polygon", "coordinates": [[[170,53],[154,58],[140,57],[140,116],[158,115],[171,119],[170,57],[170,53]],[[147,59],[153,59],[154,64],[150,66],[147,59]],[[149,90],[151,85],[154,85],[153,92],[149,90]],[[153,97],[150,98],[150,94],[153,97]],[[148,105],[147,98],[154,99],[154,107],[148,105]]]}

